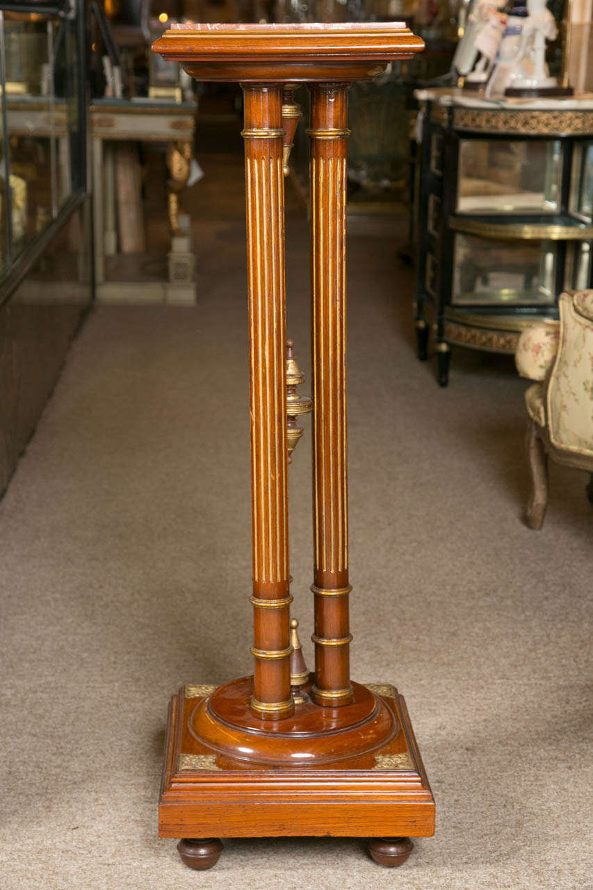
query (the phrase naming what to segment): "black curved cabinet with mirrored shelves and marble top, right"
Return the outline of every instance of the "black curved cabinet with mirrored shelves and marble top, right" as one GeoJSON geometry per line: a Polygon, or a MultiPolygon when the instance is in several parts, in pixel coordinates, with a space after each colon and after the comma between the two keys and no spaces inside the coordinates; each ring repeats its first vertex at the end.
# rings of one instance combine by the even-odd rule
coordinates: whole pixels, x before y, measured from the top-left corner
{"type": "Polygon", "coordinates": [[[563,290],[590,287],[593,95],[488,101],[419,90],[418,357],[433,316],[439,383],[451,344],[515,352],[556,319],[563,290]]]}

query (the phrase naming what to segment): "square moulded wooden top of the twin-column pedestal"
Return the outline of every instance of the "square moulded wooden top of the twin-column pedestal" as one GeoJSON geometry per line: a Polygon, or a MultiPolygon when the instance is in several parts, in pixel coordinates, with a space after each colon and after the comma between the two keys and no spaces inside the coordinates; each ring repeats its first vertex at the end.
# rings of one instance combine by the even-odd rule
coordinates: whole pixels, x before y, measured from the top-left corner
{"type": "Polygon", "coordinates": [[[198,80],[368,80],[424,43],[402,22],[173,25],[152,50],[198,80]]]}

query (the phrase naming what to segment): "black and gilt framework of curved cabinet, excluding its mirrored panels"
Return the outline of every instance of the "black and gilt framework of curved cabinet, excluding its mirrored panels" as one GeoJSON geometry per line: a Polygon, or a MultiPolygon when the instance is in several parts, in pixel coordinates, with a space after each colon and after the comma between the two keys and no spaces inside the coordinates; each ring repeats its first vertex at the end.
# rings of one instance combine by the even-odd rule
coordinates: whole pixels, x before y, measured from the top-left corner
{"type": "MultiPolygon", "coordinates": [[[[419,90],[421,141],[418,146],[417,286],[415,321],[418,358],[425,360],[431,328],[435,334],[438,382],[449,381],[451,345],[486,352],[515,352],[521,330],[532,320],[557,319],[557,298],[565,289],[590,287],[592,221],[573,212],[579,190],[573,171],[573,155],[593,144],[593,96],[570,100],[488,101],[467,97],[460,90],[419,90]],[[535,146],[556,142],[561,146],[556,209],[519,208],[520,212],[460,211],[459,158],[462,146],[488,142],[492,146],[535,146]],[[456,242],[459,236],[482,239],[507,249],[508,256],[533,255],[534,247],[552,245],[555,257],[552,298],[546,303],[530,298],[512,300],[465,299],[456,302],[456,242]],[[578,263],[582,246],[589,260],[578,263]],[[585,266],[588,268],[585,269],[585,266]]],[[[525,150],[525,155],[528,151],[525,150]]],[[[545,193],[545,189],[544,189],[545,193]]],[[[494,253],[494,252],[493,252],[494,253]]],[[[515,263],[516,264],[516,263],[515,263]]],[[[513,263],[509,262],[512,267],[513,263]]],[[[529,264],[526,279],[532,275],[529,264]]]]}

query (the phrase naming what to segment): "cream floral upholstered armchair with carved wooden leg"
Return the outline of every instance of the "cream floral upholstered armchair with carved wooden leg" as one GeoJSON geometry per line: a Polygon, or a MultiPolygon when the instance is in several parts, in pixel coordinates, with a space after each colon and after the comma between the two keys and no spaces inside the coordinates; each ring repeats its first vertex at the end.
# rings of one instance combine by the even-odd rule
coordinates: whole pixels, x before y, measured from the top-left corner
{"type": "Polygon", "coordinates": [[[515,356],[519,374],[536,381],[525,392],[530,529],[540,529],[546,514],[548,457],[592,473],[593,504],[593,290],[561,295],[559,309],[559,321],[524,329],[515,356]]]}

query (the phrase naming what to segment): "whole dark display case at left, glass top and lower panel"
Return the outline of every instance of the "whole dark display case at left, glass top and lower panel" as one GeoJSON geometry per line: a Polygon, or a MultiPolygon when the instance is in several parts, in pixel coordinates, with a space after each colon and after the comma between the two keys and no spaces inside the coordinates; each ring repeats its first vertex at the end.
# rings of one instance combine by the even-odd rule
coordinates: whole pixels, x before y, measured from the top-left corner
{"type": "Polygon", "coordinates": [[[85,4],[0,2],[0,492],[92,297],[85,4]]]}

